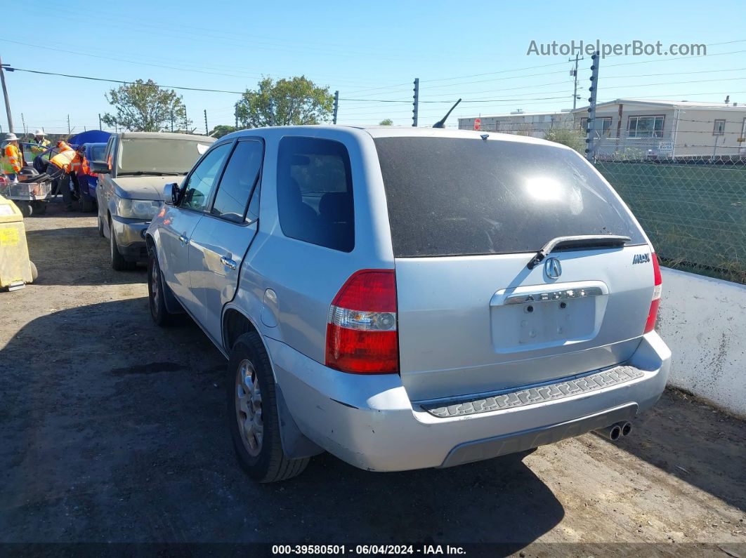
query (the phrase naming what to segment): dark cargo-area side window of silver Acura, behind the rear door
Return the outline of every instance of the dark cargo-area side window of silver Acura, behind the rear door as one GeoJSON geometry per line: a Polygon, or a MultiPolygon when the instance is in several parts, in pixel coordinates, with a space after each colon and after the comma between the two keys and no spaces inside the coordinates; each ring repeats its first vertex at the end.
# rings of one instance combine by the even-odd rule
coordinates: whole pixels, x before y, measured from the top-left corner
{"type": "Polygon", "coordinates": [[[352,177],[344,145],[329,139],[281,139],[277,180],[283,235],[342,252],[352,250],[352,177]]]}

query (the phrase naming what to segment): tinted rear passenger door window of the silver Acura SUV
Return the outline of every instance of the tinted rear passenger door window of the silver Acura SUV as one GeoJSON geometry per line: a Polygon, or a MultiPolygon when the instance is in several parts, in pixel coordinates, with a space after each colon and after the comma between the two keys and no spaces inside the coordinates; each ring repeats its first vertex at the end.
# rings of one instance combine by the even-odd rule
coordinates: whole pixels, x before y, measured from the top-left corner
{"type": "Polygon", "coordinates": [[[243,221],[249,197],[259,179],[263,154],[262,142],[238,142],[220,180],[211,215],[234,223],[243,221]]]}

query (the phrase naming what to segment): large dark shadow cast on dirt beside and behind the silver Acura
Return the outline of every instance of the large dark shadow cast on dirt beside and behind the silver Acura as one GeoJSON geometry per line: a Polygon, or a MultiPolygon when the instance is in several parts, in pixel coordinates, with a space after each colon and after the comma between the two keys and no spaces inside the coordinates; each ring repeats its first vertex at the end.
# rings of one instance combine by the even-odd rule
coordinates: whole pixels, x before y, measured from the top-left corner
{"type": "Polygon", "coordinates": [[[259,485],[233,456],[225,359],[144,297],[59,311],[0,352],[0,541],[501,542],[564,516],[523,463],[376,474],[330,455],[259,485]],[[49,332],[86,328],[84,338],[49,332]]]}

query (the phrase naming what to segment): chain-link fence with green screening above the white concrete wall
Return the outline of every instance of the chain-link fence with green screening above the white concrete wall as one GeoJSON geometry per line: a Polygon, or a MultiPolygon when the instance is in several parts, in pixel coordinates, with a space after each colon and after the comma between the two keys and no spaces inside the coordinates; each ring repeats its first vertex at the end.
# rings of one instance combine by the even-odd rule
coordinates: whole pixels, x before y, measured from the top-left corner
{"type": "Polygon", "coordinates": [[[601,156],[668,267],[746,284],[746,157],[601,156]]]}

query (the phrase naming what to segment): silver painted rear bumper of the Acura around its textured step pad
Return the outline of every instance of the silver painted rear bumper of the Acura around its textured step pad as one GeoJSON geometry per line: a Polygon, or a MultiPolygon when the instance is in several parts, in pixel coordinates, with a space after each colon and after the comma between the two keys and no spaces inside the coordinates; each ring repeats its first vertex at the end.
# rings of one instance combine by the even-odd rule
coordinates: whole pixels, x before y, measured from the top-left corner
{"type": "Polygon", "coordinates": [[[469,463],[632,419],[659,399],[671,361],[668,347],[651,332],[626,363],[639,371],[629,381],[515,407],[435,416],[410,402],[398,375],[345,374],[266,341],[298,428],[342,460],[372,471],[469,463]]]}

